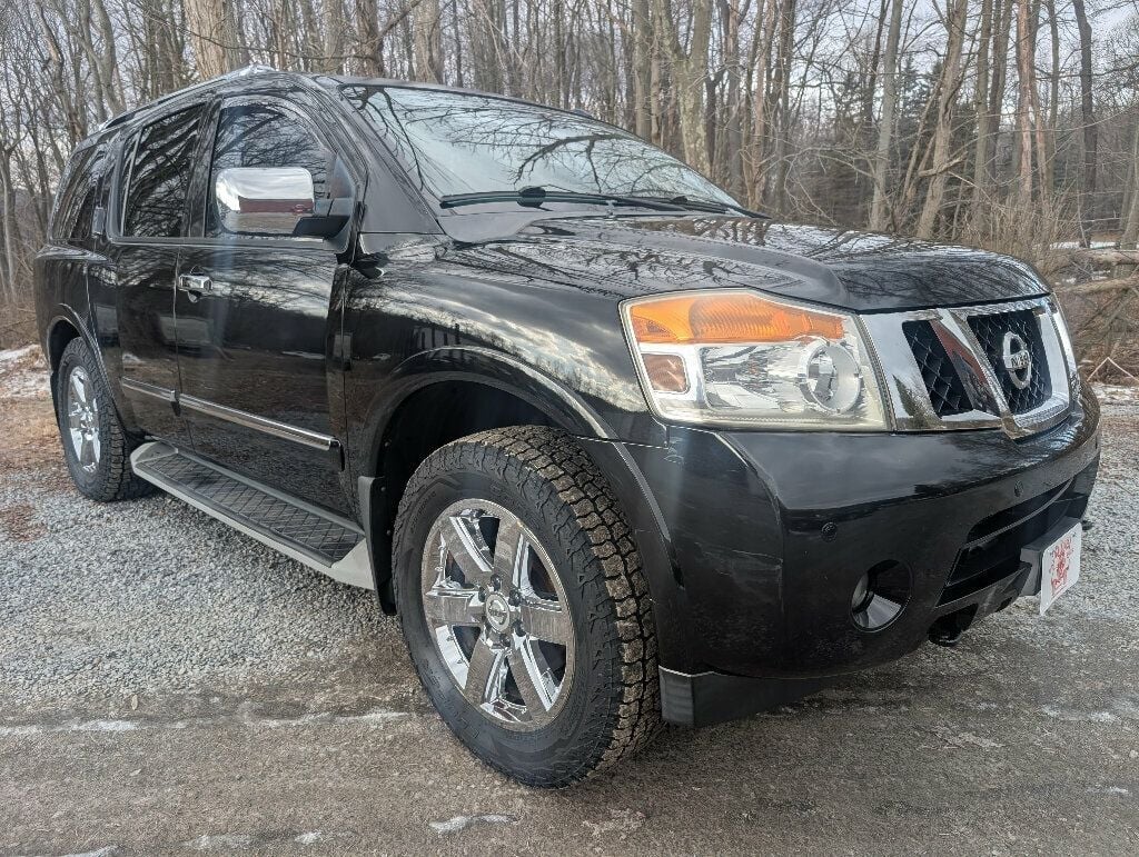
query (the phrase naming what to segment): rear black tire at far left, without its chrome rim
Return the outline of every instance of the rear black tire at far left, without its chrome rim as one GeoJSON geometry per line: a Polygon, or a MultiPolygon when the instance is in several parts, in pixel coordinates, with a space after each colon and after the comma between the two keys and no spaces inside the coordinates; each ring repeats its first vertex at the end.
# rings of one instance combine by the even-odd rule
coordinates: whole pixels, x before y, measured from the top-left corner
{"type": "Polygon", "coordinates": [[[83,339],[72,339],[59,359],[56,371],[56,421],[64,459],[75,487],[83,496],[100,502],[130,500],[150,494],[154,486],[139,479],[131,469],[130,455],[138,442],[133,440],[118,419],[118,411],[107,389],[103,370],[83,339]],[[98,463],[84,468],[72,444],[68,430],[68,385],[72,373],[82,369],[89,381],[97,405],[95,422],[98,426],[98,463]]]}

